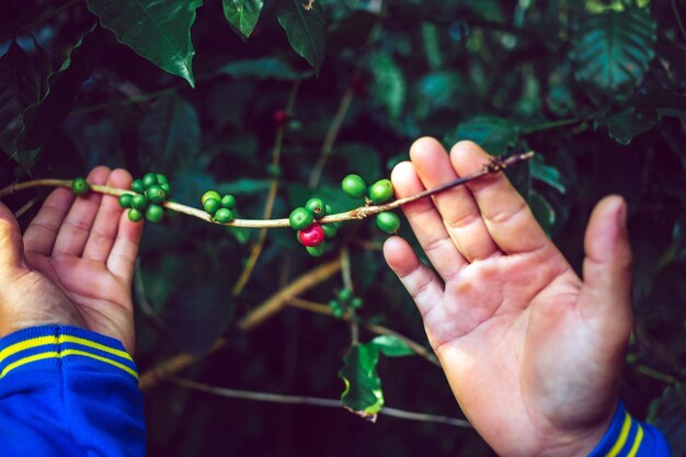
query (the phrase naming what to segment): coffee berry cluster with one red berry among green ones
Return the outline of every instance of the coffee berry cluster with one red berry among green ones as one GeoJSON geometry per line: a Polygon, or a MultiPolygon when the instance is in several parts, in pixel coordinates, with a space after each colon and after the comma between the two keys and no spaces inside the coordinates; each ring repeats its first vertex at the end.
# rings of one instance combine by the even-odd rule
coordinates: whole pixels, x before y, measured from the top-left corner
{"type": "Polygon", "coordinates": [[[324,240],[339,232],[340,222],[319,224],[318,220],[333,214],[331,206],[321,198],[310,198],[305,206],[295,208],[288,216],[290,227],[298,231],[298,240],[307,252],[320,258],[324,254],[324,240]]]}

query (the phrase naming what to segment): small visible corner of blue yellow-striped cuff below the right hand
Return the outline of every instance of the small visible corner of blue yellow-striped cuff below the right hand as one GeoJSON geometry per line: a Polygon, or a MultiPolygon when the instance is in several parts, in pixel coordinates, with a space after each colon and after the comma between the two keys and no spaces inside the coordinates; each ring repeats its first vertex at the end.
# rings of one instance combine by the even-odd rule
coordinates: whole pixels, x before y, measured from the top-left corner
{"type": "Polygon", "coordinates": [[[665,437],[654,426],[631,418],[624,404],[588,457],[670,457],[665,437]]]}

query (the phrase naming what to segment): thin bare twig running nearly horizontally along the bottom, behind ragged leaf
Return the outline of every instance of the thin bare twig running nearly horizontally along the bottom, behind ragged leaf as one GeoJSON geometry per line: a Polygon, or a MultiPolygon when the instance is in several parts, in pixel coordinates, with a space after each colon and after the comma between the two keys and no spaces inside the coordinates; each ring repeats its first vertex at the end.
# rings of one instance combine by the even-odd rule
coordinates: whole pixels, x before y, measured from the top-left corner
{"type": "MultiPolygon", "coordinates": [[[[215,387],[208,386],[206,384],[201,384],[196,381],[192,381],[190,379],[179,378],[179,377],[169,377],[168,380],[178,386],[185,387],[186,389],[193,389],[201,392],[226,397],[226,398],[236,398],[241,400],[252,400],[252,401],[264,401],[268,403],[282,403],[282,404],[309,404],[311,407],[322,407],[322,408],[335,408],[339,410],[343,410],[341,404],[341,400],[328,399],[328,398],[319,398],[319,397],[305,397],[305,396],[285,396],[279,393],[268,393],[268,392],[255,392],[252,390],[237,390],[237,389],[228,389],[225,387],[215,387]]],[[[379,412],[381,415],[388,415],[391,418],[405,419],[409,421],[420,421],[420,422],[435,422],[439,424],[448,424],[458,427],[471,429],[471,425],[468,421],[457,418],[447,418],[445,415],[435,415],[435,414],[425,414],[420,412],[404,411],[396,408],[384,407],[384,409],[379,412]]]]}

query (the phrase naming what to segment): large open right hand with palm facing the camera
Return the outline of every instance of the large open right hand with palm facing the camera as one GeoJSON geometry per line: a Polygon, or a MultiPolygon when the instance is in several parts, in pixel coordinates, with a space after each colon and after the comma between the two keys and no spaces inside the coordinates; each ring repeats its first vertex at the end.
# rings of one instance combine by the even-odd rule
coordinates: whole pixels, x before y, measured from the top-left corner
{"type": "MultiPolygon", "coordinates": [[[[450,156],[422,138],[396,167],[398,197],[488,163],[469,141],[450,156]]],[[[436,273],[407,241],[384,253],[414,298],[453,392],[501,456],[585,456],[617,404],[632,325],[626,204],[597,204],[583,279],[499,173],[403,206],[436,273]]]]}

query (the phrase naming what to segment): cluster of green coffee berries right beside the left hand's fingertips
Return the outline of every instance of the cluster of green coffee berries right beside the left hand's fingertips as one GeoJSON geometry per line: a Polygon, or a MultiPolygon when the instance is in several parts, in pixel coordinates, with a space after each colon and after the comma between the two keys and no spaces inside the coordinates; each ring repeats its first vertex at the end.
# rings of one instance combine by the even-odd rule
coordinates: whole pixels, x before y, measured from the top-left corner
{"type": "Polygon", "coordinates": [[[138,222],[144,215],[151,222],[159,222],[164,218],[162,204],[170,192],[165,175],[146,173],[142,179],[134,180],[132,191],[135,193],[119,196],[119,206],[128,208],[128,220],[138,222]]]}

